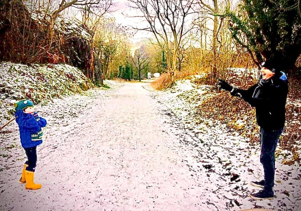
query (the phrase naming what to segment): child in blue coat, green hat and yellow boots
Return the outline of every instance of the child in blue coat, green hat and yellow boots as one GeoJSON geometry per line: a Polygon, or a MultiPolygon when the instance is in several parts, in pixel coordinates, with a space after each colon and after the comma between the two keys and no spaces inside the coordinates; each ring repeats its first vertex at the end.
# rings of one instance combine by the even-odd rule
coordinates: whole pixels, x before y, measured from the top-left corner
{"type": "Polygon", "coordinates": [[[26,189],[40,189],[41,184],[34,183],[34,170],[37,163],[37,145],[42,144],[43,132],[41,127],[46,126],[46,120],[34,112],[34,104],[29,100],[15,103],[15,117],[19,126],[21,145],[25,150],[27,161],[24,164],[20,183],[25,183],[26,189]]]}

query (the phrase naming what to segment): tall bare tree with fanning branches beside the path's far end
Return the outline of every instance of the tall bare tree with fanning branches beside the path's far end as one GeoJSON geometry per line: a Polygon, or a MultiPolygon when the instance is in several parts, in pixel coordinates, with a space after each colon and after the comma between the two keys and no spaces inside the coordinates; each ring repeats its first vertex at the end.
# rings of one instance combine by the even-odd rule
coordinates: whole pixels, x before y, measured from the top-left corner
{"type": "MultiPolygon", "coordinates": [[[[186,28],[187,16],[194,13],[194,0],[129,0],[130,7],[139,9],[148,22],[146,28],[135,28],[152,32],[157,44],[166,52],[171,81],[176,74],[177,53],[183,36],[191,30],[186,28]]],[[[133,16],[132,16],[133,17],[133,16]]]]}

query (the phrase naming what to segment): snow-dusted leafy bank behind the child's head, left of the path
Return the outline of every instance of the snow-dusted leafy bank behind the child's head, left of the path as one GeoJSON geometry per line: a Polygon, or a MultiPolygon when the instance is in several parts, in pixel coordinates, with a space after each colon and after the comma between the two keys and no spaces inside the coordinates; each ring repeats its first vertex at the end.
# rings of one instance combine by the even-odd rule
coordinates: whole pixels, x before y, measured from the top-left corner
{"type": "Polygon", "coordinates": [[[0,63],[0,125],[13,117],[13,104],[31,99],[34,104],[47,104],[53,98],[81,93],[94,85],[76,67],[59,65],[31,66],[0,63]]]}

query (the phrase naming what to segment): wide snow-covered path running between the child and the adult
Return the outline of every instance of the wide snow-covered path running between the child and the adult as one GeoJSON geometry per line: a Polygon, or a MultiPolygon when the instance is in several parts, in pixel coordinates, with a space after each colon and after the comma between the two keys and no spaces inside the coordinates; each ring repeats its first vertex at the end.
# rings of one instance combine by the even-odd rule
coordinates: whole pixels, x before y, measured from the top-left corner
{"type": "Polygon", "coordinates": [[[141,85],[127,83],[108,95],[95,91],[72,103],[70,97],[66,103],[73,112],[56,100],[65,117],[49,112],[54,105],[40,108],[49,122],[35,174],[42,189],[28,191],[18,184],[25,161],[18,160],[18,167],[1,172],[0,209],[200,209],[195,204],[202,190],[182,162],[185,151],[165,132],[170,125],[141,85]]]}

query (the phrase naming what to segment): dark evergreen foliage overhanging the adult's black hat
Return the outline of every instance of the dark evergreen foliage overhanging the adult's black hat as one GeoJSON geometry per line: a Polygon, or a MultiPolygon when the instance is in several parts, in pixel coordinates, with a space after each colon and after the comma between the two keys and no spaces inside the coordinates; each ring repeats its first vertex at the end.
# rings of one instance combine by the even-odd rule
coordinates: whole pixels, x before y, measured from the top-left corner
{"type": "MultiPolygon", "coordinates": [[[[239,11],[227,11],[233,38],[253,56],[257,65],[276,58],[281,70],[296,69],[301,54],[301,14],[296,0],[245,0],[239,11]]],[[[300,3],[300,2],[299,2],[300,3]]]]}

